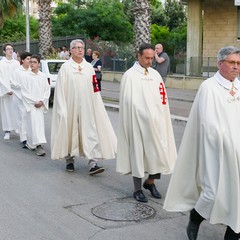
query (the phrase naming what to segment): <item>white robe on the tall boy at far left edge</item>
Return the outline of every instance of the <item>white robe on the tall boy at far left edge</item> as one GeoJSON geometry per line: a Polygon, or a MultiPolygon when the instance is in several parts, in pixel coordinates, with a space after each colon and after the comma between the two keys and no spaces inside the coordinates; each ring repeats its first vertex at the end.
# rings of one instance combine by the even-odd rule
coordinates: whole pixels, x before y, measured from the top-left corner
{"type": "Polygon", "coordinates": [[[10,79],[14,70],[19,66],[20,63],[15,59],[8,60],[3,57],[0,61],[0,98],[3,131],[12,131],[17,128],[13,95],[7,93],[12,91],[10,79]]]}

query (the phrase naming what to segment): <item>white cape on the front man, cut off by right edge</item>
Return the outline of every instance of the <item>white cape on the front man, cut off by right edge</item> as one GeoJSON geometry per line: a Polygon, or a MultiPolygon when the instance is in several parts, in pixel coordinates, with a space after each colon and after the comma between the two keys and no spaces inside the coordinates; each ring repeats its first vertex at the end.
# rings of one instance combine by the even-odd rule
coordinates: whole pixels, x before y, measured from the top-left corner
{"type": "Polygon", "coordinates": [[[193,208],[240,232],[240,84],[216,73],[196,95],[164,209],[193,208]]]}

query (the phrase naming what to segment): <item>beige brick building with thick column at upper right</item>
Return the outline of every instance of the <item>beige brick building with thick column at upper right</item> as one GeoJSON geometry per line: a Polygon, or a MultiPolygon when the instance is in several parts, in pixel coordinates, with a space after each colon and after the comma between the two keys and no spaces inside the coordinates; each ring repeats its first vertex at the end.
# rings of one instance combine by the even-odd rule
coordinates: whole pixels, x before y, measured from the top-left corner
{"type": "Polygon", "coordinates": [[[216,67],[218,50],[240,47],[239,0],[181,0],[188,6],[187,74],[216,67]]]}

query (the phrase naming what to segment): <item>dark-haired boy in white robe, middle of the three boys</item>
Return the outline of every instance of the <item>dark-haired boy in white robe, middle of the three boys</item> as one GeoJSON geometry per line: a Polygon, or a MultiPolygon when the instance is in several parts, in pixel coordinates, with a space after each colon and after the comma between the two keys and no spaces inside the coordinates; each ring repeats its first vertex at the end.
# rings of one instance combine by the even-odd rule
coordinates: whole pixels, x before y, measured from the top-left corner
{"type": "Polygon", "coordinates": [[[26,133],[26,108],[23,105],[21,86],[22,82],[26,81],[27,75],[31,72],[30,59],[32,54],[30,52],[23,52],[20,55],[21,66],[17,68],[11,78],[11,87],[13,91],[13,101],[16,111],[17,130],[20,137],[22,147],[26,147],[27,133],[26,133]]]}

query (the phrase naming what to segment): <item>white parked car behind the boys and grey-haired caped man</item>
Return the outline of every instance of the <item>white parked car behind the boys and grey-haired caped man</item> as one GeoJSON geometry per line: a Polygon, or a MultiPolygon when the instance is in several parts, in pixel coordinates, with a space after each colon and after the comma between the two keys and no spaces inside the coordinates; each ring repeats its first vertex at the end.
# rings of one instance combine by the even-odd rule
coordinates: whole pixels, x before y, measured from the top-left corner
{"type": "Polygon", "coordinates": [[[48,77],[48,83],[51,85],[50,102],[53,101],[54,89],[57,81],[57,75],[62,64],[66,60],[62,59],[43,59],[41,60],[41,71],[48,77]]]}

